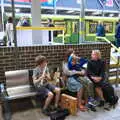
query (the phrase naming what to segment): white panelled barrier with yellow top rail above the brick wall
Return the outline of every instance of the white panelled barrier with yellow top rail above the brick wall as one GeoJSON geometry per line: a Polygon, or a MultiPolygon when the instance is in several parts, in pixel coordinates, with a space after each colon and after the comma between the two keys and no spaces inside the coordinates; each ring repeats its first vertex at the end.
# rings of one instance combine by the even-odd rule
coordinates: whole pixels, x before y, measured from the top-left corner
{"type": "Polygon", "coordinates": [[[17,46],[64,44],[64,27],[16,27],[16,29],[17,46]],[[56,38],[61,35],[62,42],[54,41],[54,32],[57,33],[56,38]]]}

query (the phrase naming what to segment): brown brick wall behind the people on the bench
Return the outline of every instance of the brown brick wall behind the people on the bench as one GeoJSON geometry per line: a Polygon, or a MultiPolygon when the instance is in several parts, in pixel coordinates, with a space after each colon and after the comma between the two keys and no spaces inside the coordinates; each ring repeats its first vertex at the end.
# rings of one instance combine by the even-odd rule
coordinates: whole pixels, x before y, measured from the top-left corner
{"type": "Polygon", "coordinates": [[[16,69],[34,68],[34,58],[41,54],[47,57],[49,66],[60,65],[68,48],[73,48],[76,54],[90,58],[93,49],[100,49],[102,57],[110,59],[110,44],[80,44],[80,45],[57,45],[57,46],[32,46],[32,47],[10,47],[0,48],[0,82],[5,80],[4,72],[16,69]]]}

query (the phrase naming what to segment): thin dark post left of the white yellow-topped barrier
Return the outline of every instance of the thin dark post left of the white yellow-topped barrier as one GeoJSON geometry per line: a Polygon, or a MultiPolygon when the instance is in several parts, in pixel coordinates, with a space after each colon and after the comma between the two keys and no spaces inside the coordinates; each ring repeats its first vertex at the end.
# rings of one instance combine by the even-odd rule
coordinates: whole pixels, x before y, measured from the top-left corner
{"type": "Polygon", "coordinates": [[[13,18],[13,34],[14,34],[14,43],[15,47],[17,47],[17,37],[16,37],[16,22],[15,22],[15,6],[14,6],[14,0],[11,0],[12,5],[12,18],[13,18]]]}

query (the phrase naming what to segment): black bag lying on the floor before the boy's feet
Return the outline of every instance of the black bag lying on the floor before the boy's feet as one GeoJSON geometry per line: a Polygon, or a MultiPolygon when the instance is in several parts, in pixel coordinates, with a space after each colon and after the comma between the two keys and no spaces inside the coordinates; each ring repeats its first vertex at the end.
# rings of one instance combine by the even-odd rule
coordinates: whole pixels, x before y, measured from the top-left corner
{"type": "Polygon", "coordinates": [[[60,109],[50,113],[50,120],[65,120],[68,115],[69,111],[67,109],[60,109]]]}

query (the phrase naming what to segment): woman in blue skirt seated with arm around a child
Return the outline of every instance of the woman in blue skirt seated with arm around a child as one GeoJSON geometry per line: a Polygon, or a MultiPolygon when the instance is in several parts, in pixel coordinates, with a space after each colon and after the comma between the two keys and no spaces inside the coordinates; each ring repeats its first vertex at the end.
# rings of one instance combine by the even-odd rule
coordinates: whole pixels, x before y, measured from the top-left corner
{"type": "Polygon", "coordinates": [[[67,51],[65,60],[63,62],[63,73],[68,77],[67,79],[67,88],[70,92],[77,92],[78,98],[78,108],[81,111],[86,111],[87,108],[82,105],[82,96],[83,96],[83,85],[80,83],[79,78],[75,79],[73,75],[84,75],[84,71],[69,70],[68,68],[68,57],[72,54],[73,50],[69,49],[67,51]]]}

